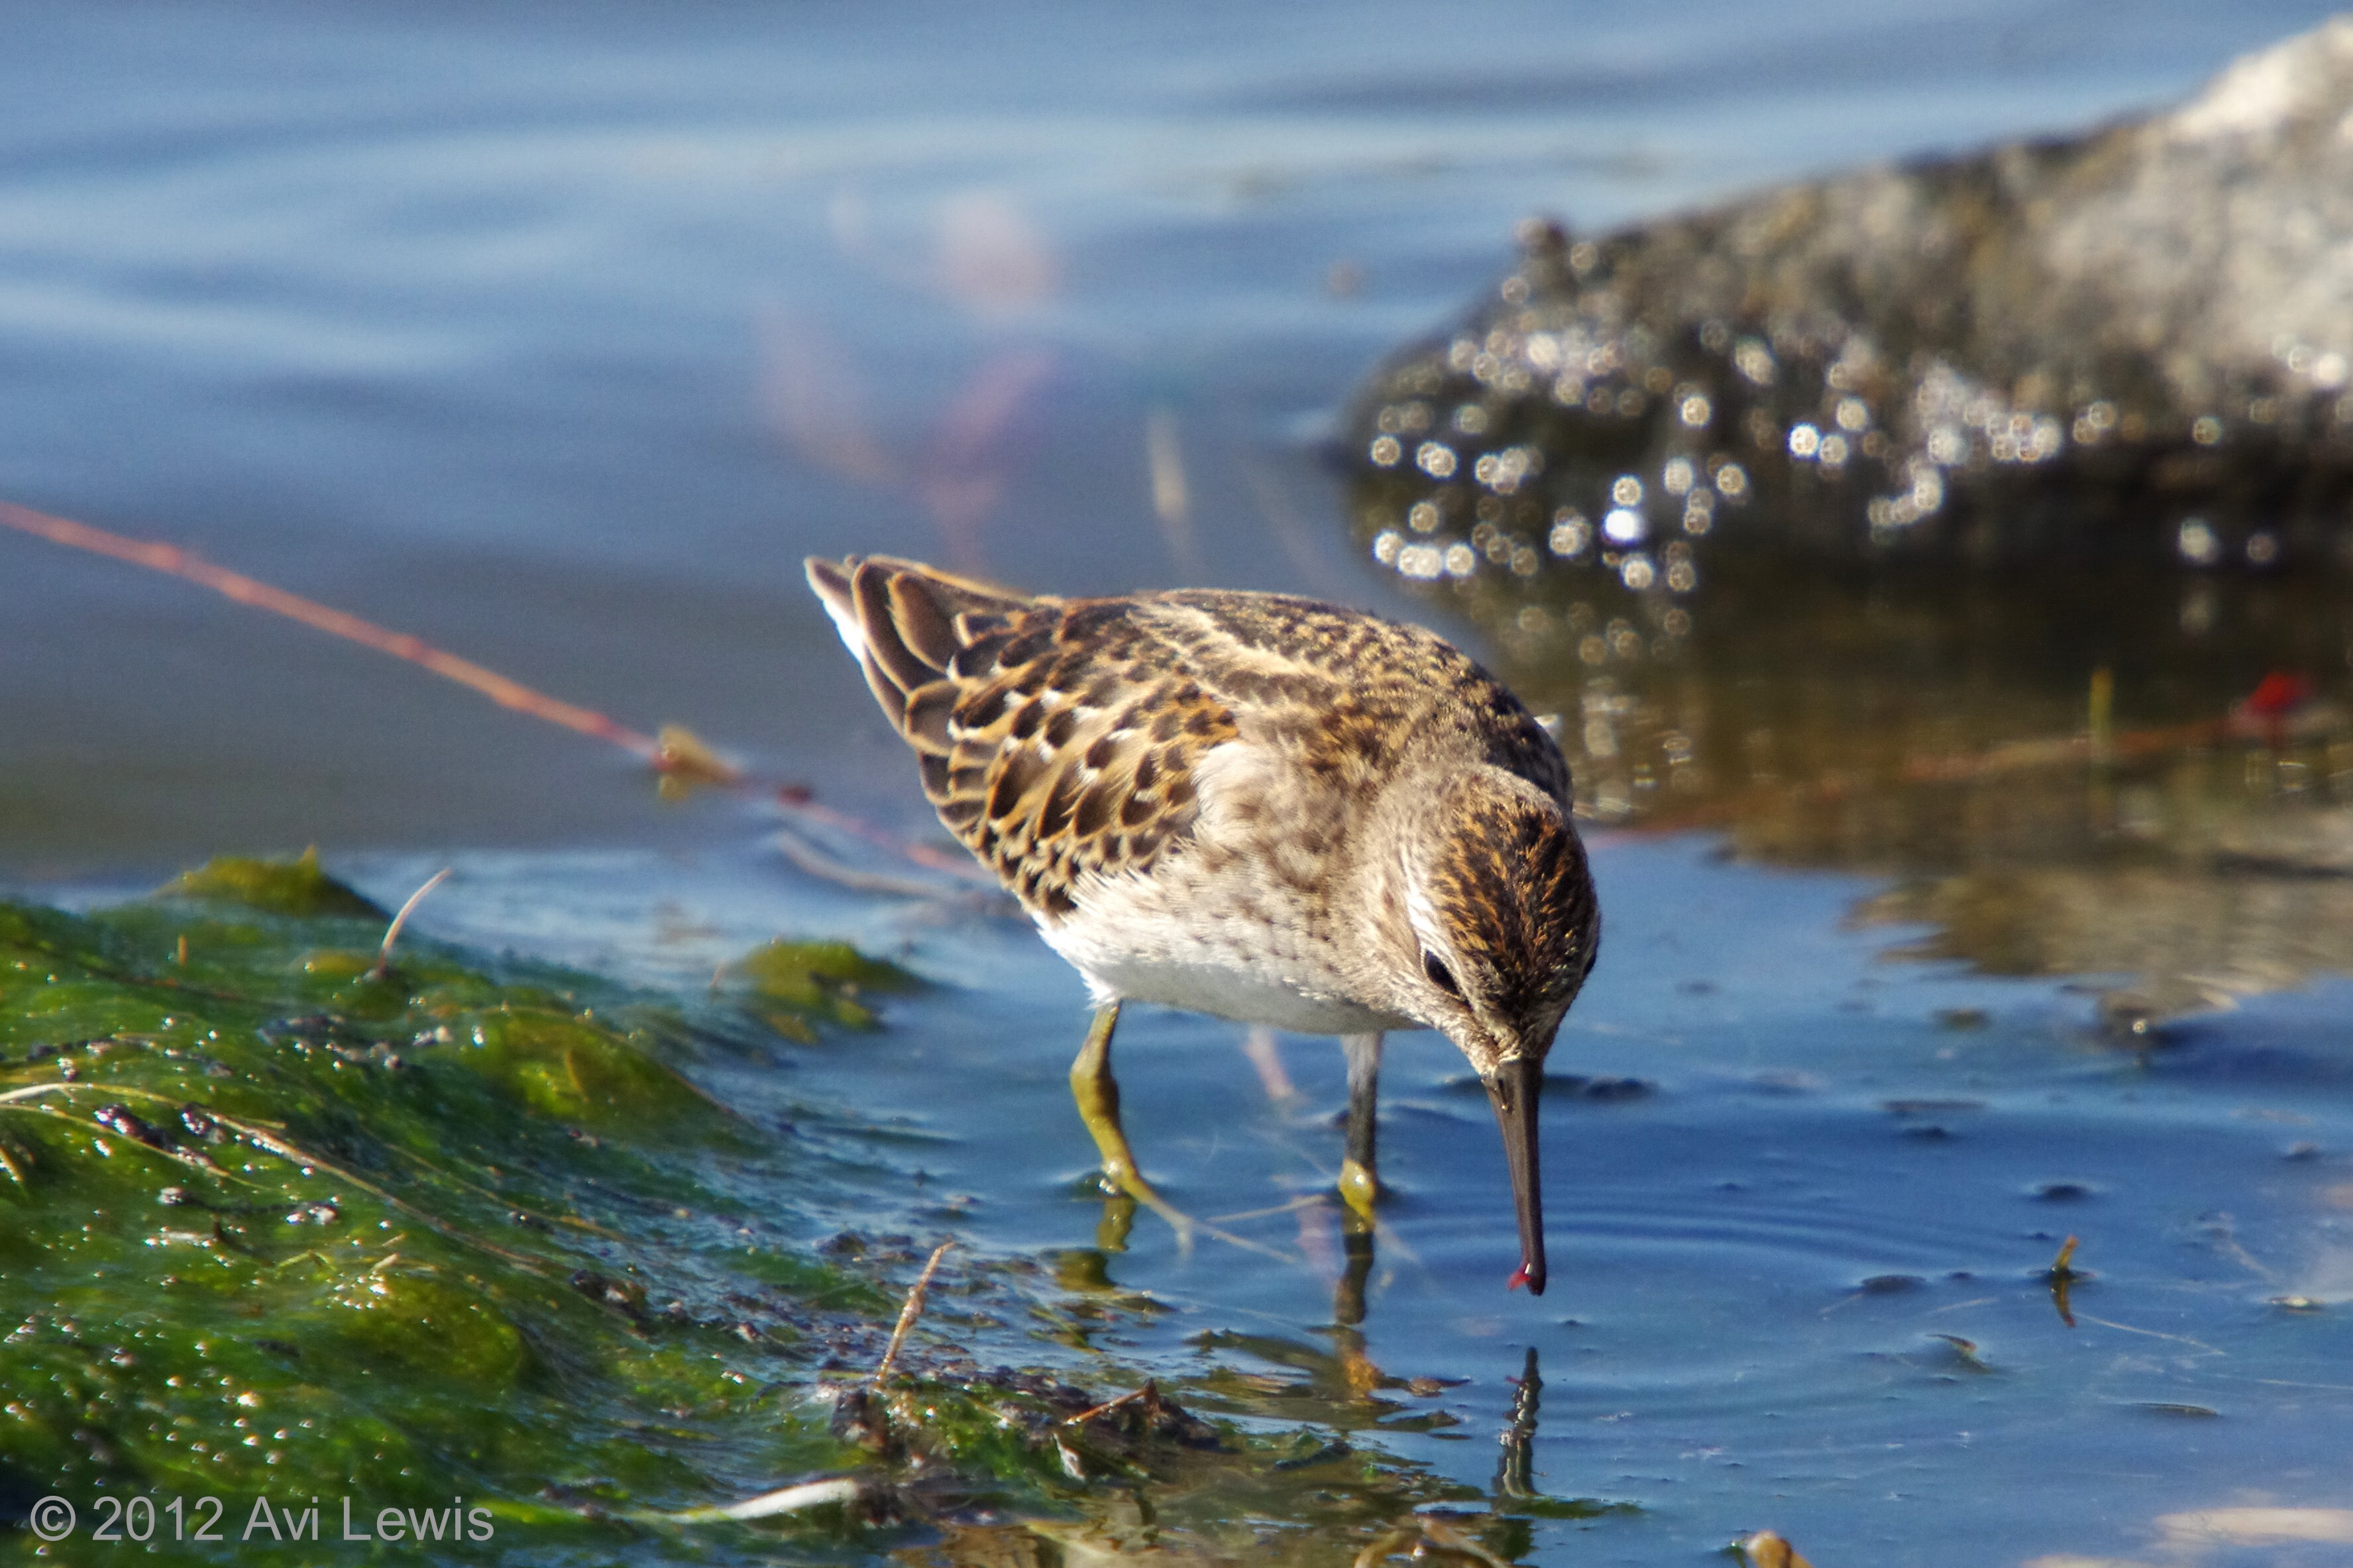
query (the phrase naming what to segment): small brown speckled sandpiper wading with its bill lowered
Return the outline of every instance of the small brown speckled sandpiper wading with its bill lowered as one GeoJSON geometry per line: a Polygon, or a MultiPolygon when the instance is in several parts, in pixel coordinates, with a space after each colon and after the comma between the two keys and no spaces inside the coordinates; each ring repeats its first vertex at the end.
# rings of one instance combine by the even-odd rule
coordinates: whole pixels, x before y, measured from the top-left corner
{"type": "Polygon", "coordinates": [[[1511,691],[1433,632],[1313,599],[807,569],[939,820],[1094,994],[1071,1088],[1108,1185],[1167,1211],[1120,1128],[1122,1001],[1348,1037],[1341,1192],[1367,1215],[1381,1032],[1431,1027],[1487,1086],[1511,1284],[1544,1291],[1537,1093],[1600,912],[1569,769],[1511,691]]]}

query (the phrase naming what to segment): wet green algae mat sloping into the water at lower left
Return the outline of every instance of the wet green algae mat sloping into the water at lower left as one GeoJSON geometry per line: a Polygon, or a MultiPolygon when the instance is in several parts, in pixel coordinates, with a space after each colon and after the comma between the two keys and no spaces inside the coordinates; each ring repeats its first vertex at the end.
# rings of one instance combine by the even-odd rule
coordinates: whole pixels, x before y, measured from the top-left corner
{"type": "MultiPolygon", "coordinates": [[[[0,905],[0,1552],[1341,1563],[1525,1540],[1417,1467],[981,1368],[922,1324],[878,1380],[918,1253],[816,1241],[854,1215],[856,1161],[696,1067],[875,1027],[906,985],[824,943],[689,1001],[388,947],[308,856],[92,914],[0,905]]],[[[1049,1321],[1038,1279],[953,1258],[934,1321],[991,1298],[1049,1321]]]]}

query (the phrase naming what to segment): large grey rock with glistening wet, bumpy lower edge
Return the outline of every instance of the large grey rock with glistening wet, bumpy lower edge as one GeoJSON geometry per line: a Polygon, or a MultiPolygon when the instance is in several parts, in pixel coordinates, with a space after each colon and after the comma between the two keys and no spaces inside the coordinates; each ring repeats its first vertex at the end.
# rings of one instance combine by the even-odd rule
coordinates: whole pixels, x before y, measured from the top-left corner
{"type": "Polygon", "coordinates": [[[2334,562],[2353,503],[2353,19],[2071,141],[1864,169],[1605,237],[1360,393],[1405,578],[1689,592],[1838,559],[2334,562]]]}

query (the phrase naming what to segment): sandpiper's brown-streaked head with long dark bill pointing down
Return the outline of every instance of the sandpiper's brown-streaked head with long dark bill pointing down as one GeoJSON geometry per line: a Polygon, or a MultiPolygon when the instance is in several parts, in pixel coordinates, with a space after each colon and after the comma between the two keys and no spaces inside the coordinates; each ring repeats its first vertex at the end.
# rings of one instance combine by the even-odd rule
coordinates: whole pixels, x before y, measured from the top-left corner
{"type": "Polygon", "coordinates": [[[1504,1131],[1520,1215],[1513,1284],[1544,1293],[1537,1091],[1593,969],[1600,907],[1558,799],[1497,766],[1452,776],[1405,825],[1386,945],[1395,1011],[1452,1039],[1504,1131]]]}

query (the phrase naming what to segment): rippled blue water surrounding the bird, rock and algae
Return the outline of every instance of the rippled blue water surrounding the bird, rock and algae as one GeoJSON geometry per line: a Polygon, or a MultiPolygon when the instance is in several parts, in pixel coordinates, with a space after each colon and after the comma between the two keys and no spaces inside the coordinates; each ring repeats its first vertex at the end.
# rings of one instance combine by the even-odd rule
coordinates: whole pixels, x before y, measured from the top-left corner
{"type": "Polygon", "coordinates": [[[1598,226],[2080,125],[2315,14],[9,7],[5,498],[689,722],[899,832],[925,832],[913,769],[807,550],[1384,604],[1565,712],[1609,936],[1553,1058],[1541,1302],[1501,1291],[1492,1119],[1435,1037],[1391,1044],[1360,1326],[1318,1201],[1327,1041],[1280,1041],[1278,1100],[1233,1027],[1136,1013],[1139,1152],[1249,1246],[1184,1253],[1141,1215],[1099,1255],[1082,997],[1016,922],[807,879],[725,795],[654,806],[576,736],[12,534],[0,877],[89,896],[315,839],[391,900],[454,860],[435,936],[652,985],[776,931],[904,950],[941,987],[887,1032],[722,1084],[849,1128],[899,1199],[845,1222],[1165,1302],[1005,1331],[1106,1382],[1459,1378],[1235,1408],[1360,1422],[1478,1488],[1537,1349],[1534,1486],[1624,1507],[1539,1521],[1529,1561],[1751,1528],[1824,1568],[2320,1561],[2158,1521],[2334,1507],[2353,1450],[2341,736],[2226,724],[2273,668],[2334,693],[2332,607],[2167,585],[2101,642],[1934,592],[1711,599],[1689,654],[1628,656],[1607,607],[1395,597],[1313,451],[1527,212],[1598,226]],[[2000,752],[2078,736],[2097,668],[2120,733],[2209,729],[2000,752]],[[2009,762],[1922,780],[1922,755],[2009,762]],[[2068,1234],[2073,1326],[2042,1279],[2068,1234]]]}

